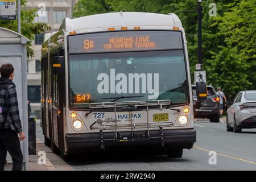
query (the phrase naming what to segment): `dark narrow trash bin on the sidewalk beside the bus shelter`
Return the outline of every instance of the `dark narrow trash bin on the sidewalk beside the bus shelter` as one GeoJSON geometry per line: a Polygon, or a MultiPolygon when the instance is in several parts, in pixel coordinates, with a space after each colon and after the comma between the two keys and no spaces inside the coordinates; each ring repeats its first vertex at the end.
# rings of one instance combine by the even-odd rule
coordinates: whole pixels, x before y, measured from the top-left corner
{"type": "Polygon", "coordinates": [[[36,118],[28,118],[28,155],[36,155],[36,118]]]}

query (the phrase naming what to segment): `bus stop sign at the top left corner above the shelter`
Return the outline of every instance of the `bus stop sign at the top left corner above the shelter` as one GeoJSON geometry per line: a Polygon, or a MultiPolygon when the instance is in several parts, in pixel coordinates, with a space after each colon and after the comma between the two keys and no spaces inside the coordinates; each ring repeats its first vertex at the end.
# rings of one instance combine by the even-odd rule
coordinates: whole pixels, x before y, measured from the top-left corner
{"type": "Polygon", "coordinates": [[[16,0],[0,0],[0,19],[16,19],[16,0]]]}

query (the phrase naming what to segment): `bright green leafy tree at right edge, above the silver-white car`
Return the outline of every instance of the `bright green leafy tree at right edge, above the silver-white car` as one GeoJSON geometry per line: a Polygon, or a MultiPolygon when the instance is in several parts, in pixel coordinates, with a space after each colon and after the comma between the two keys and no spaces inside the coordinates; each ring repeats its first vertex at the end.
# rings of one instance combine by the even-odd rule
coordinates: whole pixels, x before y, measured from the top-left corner
{"type": "Polygon", "coordinates": [[[234,98],[240,90],[256,89],[256,1],[234,0],[226,10],[213,23],[219,41],[210,50],[207,71],[210,82],[234,98]]]}

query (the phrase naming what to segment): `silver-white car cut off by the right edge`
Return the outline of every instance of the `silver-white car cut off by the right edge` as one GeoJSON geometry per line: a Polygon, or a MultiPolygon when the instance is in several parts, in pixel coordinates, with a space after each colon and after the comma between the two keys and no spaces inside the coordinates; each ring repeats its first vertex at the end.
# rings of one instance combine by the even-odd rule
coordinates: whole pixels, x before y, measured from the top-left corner
{"type": "Polygon", "coordinates": [[[256,128],[256,90],[242,91],[237,94],[227,111],[226,130],[240,133],[242,129],[256,128]]]}

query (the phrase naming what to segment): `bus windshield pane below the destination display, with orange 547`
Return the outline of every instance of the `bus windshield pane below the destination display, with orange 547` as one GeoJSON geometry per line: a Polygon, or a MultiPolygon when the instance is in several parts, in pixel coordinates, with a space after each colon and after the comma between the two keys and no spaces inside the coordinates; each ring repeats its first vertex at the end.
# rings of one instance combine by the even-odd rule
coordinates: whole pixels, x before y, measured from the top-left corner
{"type": "Polygon", "coordinates": [[[188,93],[183,50],[69,55],[71,107],[121,96],[118,101],[182,104],[188,102],[188,93]]]}

